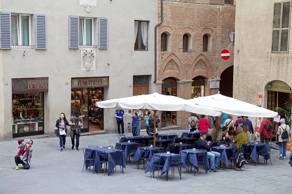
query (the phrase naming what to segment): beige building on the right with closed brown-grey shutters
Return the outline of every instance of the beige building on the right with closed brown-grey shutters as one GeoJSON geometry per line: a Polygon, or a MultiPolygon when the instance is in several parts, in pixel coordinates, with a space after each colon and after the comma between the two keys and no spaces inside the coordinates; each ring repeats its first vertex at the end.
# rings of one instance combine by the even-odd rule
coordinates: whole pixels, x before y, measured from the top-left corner
{"type": "Polygon", "coordinates": [[[237,0],[234,97],[273,111],[284,108],[292,98],[290,28],[291,1],[237,0]]]}

